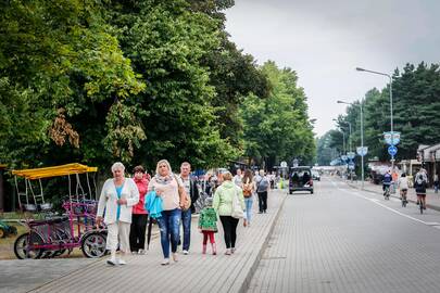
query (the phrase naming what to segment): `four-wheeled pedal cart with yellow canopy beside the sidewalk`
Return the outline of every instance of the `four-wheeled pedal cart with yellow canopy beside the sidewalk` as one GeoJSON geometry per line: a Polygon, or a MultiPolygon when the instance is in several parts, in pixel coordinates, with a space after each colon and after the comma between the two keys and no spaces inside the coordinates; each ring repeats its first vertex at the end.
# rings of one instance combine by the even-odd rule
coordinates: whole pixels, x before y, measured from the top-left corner
{"type": "Polygon", "coordinates": [[[12,171],[15,176],[20,209],[28,228],[27,232],[15,240],[14,253],[17,258],[55,257],[65,252],[72,253],[75,247],[80,247],[87,257],[101,257],[105,254],[106,229],[95,227],[96,184],[95,180],[91,184],[89,178],[89,174],[97,170],[96,167],[67,164],[12,171]],[[53,212],[53,205],[46,201],[43,194],[41,179],[53,177],[68,179],[68,196],[62,204],[65,211],[62,215],[53,212]],[[36,181],[39,193],[34,191],[36,181]],[[81,181],[86,181],[88,192],[85,192],[81,181]],[[72,190],[73,187],[75,191],[72,190]]]}

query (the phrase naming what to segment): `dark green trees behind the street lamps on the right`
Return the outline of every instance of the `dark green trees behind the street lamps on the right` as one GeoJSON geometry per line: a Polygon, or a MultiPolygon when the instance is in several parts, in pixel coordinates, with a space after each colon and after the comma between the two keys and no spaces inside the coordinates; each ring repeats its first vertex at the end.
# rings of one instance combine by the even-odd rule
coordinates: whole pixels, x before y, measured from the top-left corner
{"type": "MultiPolygon", "coordinates": [[[[439,64],[418,66],[406,64],[403,72],[395,71],[392,84],[393,128],[401,132],[397,158],[414,158],[419,144],[433,144],[440,141],[440,71],[439,64]]],[[[388,161],[389,154],[384,141],[384,132],[390,131],[389,85],[381,91],[372,89],[365,94],[364,137],[368,145],[368,156],[388,161]]],[[[356,102],[359,103],[359,102],[356,102]]],[[[347,115],[339,117],[339,125],[351,122],[355,126],[353,145],[360,144],[359,107],[349,106],[347,115]],[[357,112],[356,112],[357,111],[357,112]]],[[[347,132],[347,131],[345,131],[347,132]]],[[[332,136],[334,140],[338,140],[332,136]]]]}

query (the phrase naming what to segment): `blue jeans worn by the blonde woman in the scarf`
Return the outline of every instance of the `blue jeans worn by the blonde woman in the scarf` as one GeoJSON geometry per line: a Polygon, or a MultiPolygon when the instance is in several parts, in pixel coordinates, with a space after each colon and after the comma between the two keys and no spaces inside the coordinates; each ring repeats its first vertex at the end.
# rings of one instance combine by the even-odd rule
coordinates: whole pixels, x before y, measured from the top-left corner
{"type": "Polygon", "coordinates": [[[161,230],[161,244],[164,258],[169,258],[169,243],[172,245],[172,252],[177,252],[180,218],[181,211],[179,208],[163,211],[162,217],[158,218],[159,228],[161,230]]]}

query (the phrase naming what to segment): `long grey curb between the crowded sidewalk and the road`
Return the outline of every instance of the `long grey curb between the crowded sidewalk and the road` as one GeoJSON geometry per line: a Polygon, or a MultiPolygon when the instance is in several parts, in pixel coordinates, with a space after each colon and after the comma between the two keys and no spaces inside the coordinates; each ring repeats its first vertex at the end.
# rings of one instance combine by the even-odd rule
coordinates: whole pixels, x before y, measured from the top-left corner
{"type": "MultiPolygon", "coordinates": [[[[284,194],[284,193],[281,193],[281,194],[284,194]]],[[[229,289],[228,292],[244,293],[244,292],[247,292],[249,290],[252,277],[255,273],[256,268],[260,265],[260,260],[262,259],[263,254],[264,254],[264,252],[265,252],[265,250],[267,247],[268,241],[269,241],[269,239],[271,239],[271,237],[272,237],[272,234],[274,232],[275,224],[278,221],[279,214],[280,214],[280,212],[281,212],[281,209],[282,209],[282,207],[285,205],[285,201],[286,201],[287,196],[288,196],[287,194],[284,194],[284,199],[281,200],[281,203],[280,203],[280,205],[279,205],[279,207],[278,207],[278,209],[276,212],[274,220],[272,221],[271,227],[268,228],[268,233],[266,234],[260,250],[256,252],[256,255],[255,255],[252,264],[250,265],[250,268],[249,268],[248,272],[246,273],[246,277],[243,278],[243,280],[242,280],[242,282],[240,284],[240,288],[238,289],[238,291],[234,291],[234,285],[232,285],[229,289]]]]}

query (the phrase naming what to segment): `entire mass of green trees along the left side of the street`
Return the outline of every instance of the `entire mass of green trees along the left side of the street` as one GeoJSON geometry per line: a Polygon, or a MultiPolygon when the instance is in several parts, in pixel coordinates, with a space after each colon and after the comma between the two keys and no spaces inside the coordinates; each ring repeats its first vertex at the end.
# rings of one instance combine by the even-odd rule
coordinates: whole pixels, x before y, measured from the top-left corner
{"type": "Polygon", "coordinates": [[[0,3],[0,163],[313,156],[297,74],[230,41],[231,0],[0,3]],[[255,113],[250,112],[255,110],[255,113]],[[254,125],[252,119],[257,119],[254,125]]]}

